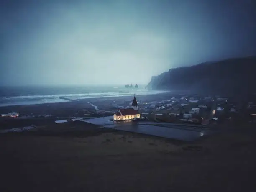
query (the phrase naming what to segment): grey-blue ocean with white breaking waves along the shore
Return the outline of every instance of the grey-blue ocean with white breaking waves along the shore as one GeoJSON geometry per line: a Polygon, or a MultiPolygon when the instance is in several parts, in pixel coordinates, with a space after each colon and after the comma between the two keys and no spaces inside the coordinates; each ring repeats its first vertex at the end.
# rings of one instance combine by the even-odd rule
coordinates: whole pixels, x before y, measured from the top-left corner
{"type": "Polygon", "coordinates": [[[62,97],[81,100],[88,98],[151,95],[166,91],[125,88],[124,86],[24,86],[0,87],[0,107],[69,102],[62,97]]]}

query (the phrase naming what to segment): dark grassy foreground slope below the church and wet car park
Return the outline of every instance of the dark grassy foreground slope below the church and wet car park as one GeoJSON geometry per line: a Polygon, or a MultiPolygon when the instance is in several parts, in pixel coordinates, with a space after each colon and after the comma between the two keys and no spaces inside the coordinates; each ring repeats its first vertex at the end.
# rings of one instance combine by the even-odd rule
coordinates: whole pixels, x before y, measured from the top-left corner
{"type": "Polygon", "coordinates": [[[251,127],[194,143],[122,132],[5,134],[0,191],[255,191],[255,136],[251,127]]]}

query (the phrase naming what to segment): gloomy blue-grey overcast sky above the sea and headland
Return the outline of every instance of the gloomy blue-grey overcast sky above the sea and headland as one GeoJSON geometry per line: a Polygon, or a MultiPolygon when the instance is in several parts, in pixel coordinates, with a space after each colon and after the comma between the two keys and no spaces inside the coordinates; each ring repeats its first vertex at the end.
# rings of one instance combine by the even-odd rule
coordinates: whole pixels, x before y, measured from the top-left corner
{"type": "Polygon", "coordinates": [[[254,0],[2,0],[0,84],[147,84],[256,55],[254,0]]]}

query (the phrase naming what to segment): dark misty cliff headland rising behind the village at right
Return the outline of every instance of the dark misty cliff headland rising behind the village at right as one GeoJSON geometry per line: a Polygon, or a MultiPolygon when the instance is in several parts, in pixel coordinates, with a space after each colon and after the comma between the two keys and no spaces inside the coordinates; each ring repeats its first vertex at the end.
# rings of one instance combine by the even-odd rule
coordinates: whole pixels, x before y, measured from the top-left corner
{"type": "Polygon", "coordinates": [[[256,56],[169,69],[151,78],[150,90],[234,94],[256,91],[256,56]]]}

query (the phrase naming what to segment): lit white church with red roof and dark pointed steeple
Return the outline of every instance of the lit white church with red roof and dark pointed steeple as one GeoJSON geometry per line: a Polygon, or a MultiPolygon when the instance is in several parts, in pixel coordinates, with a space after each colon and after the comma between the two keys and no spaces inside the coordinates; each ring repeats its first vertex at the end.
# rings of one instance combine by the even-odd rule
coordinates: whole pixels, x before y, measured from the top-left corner
{"type": "Polygon", "coordinates": [[[114,120],[130,120],[133,118],[140,118],[141,114],[138,111],[138,103],[134,96],[131,108],[120,109],[114,114],[114,120]]]}

